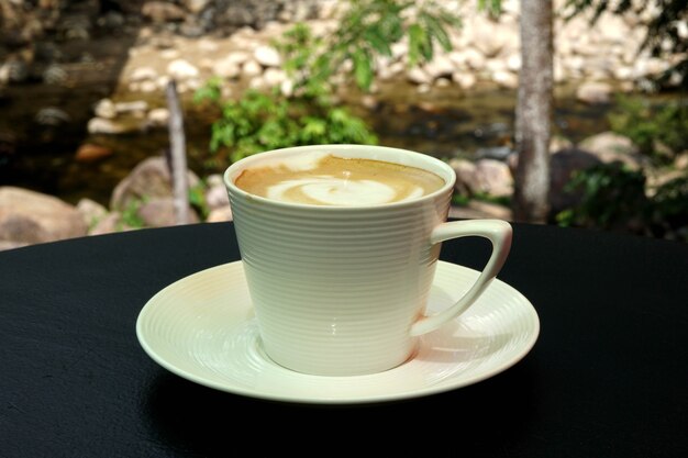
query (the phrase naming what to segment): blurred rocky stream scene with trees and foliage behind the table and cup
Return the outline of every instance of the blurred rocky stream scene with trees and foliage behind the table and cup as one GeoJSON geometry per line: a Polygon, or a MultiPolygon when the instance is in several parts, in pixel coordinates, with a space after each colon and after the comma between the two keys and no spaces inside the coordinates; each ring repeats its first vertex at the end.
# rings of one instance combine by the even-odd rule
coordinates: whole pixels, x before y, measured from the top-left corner
{"type": "Polygon", "coordinates": [[[454,216],[685,243],[687,52],[686,0],[0,0],[0,249],[179,223],[175,97],[185,222],[241,157],[369,143],[452,164],[454,216]]]}

